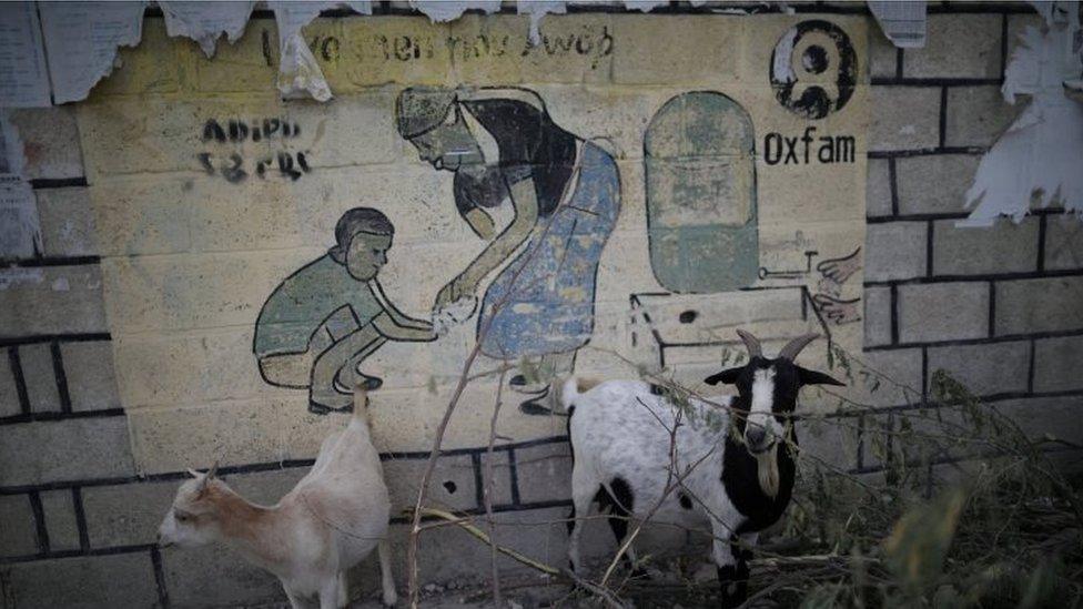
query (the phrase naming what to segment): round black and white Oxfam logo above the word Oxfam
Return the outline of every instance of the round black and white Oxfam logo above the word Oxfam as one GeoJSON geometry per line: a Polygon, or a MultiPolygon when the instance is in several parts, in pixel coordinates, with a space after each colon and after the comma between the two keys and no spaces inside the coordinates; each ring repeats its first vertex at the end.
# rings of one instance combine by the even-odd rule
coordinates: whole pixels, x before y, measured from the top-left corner
{"type": "Polygon", "coordinates": [[[853,95],[858,58],[841,28],[818,19],[790,28],[771,53],[771,87],[787,110],[822,119],[853,95]]]}

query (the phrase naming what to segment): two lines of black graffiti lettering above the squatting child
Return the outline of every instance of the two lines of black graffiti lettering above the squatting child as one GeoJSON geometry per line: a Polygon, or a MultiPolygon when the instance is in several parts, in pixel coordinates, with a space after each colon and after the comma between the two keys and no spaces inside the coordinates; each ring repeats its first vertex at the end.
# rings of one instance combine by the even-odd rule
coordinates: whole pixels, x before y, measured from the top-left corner
{"type": "MultiPolygon", "coordinates": [[[[237,144],[245,142],[285,142],[296,139],[298,135],[301,135],[301,125],[287,119],[253,121],[209,119],[203,123],[200,140],[208,144],[237,144]]],[[[230,151],[199,152],[195,158],[208,175],[221,175],[231,184],[241,183],[251,175],[266,180],[272,174],[295,181],[312,171],[305,151],[261,151],[254,159],[246,159],[243,151],[231,146],[230,151]]]]}

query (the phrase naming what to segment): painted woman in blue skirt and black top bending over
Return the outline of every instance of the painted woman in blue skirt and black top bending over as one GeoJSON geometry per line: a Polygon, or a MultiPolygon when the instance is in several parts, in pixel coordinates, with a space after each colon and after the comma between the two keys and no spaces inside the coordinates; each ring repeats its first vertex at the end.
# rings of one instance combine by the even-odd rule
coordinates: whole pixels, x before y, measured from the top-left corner
{"type": "MultiPolygon", "coordinates": [[[[478,316],[482,353],[570,372],[594,331],[598,262],[620,211],[613,156],[553,122],[525,89],[407,89],[396,115],[423,161],[455,173],[455,207],[488,242],[434,308],[473,297],[495,275],[478,316]],[[505,205],[512,220],[498,230],[493,212],[505,205]]],[[[544,412],[544,384],[522,375],[510,384],[534,394],[524,412],[544,412]]]]}

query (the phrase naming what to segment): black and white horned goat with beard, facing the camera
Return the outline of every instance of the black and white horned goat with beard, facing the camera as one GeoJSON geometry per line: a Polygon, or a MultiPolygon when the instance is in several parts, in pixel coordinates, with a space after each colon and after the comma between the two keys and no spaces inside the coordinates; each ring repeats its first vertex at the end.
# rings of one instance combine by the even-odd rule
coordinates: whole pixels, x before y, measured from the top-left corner
{"type": "MultiPolygon", "coordinates": [[[[751,334],[738,334],[748,348],[748,363],[706,379],[736,385],[738,395],[691,399],[689,408],[698,416],[680,419],[674,433],[677,407],[647,383],[609,380],[583,387],[571,378],[564,384],[561,402],[569,413],[574,459],[568,544],[574,570],[581,570],[583,526],[576,515],[586,516],[594,500],[609,509],[618,544],[627,534],[628,518],[644,519],[652,509],[652,521],[678,526],[701,526],[706,517],[722,605],[743,602],[748,548],[759,531],[779,519],[793,489],[797,436],[790,415],[798,390],[803,385],[842,383],[794,363],[816,334],[794,338],[773,359],[763,357],[751,334]],[[717,415],[707,416],[711,410],[717,415]],[[715,425],[707,423],[711,418],[715,425]],[[730,434],[731,426],[738,434],[730,434]],[[667,483],[679,485],[667,495],[667,483]]],[[[628,552],[635,561],[630,547],[628,552]]]]}

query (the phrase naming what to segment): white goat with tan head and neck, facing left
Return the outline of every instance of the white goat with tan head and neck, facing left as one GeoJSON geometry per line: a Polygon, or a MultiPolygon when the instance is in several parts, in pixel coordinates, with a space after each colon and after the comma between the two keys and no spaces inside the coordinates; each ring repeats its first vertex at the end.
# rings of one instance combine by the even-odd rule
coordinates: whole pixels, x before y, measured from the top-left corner
{"type": "Polygon", "coordinates": [[[368,400],[356,389],[354,413],[320,447],[312,470],[276,505],[246,501],[214,476],[189,470],[159,527],[161,546],[222,541],[282,581],[290,603],[318,597],[321,609],[344,607],[346,570],[373,548],[379,554],[383,600],[396,601],[387,521],[391,500],[379,455],[372,445],[368,400]]]}

